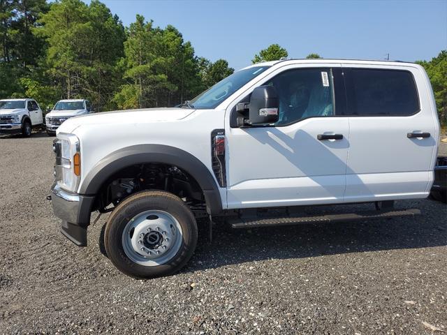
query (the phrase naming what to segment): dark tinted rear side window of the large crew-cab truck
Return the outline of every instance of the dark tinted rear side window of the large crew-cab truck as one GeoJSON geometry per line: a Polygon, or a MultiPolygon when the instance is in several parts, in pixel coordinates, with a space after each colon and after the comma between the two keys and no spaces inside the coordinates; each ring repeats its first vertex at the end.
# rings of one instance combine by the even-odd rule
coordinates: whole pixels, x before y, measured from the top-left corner
{"type": "Polygon", "coordinates": [[[349,114],[406,116],[418,112],[418,93],[409,71],[352,68],[349,73],[349,114]]]}

